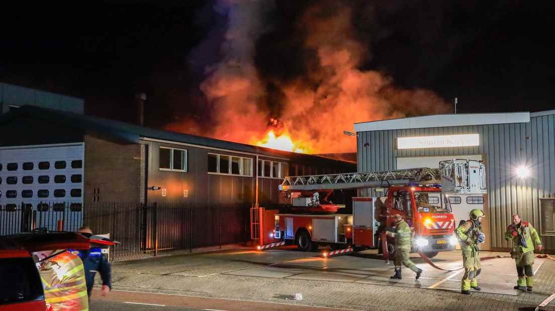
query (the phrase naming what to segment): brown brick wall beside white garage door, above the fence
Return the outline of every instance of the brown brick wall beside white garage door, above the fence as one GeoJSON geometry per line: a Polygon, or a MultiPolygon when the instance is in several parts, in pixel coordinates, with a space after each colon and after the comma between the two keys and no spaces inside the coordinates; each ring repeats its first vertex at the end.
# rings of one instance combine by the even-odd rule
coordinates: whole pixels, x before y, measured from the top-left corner
{"type": "Polygon", "coordinates": [[[84,201],[144,201],[144,146],[85,135],[84,201]]]}

